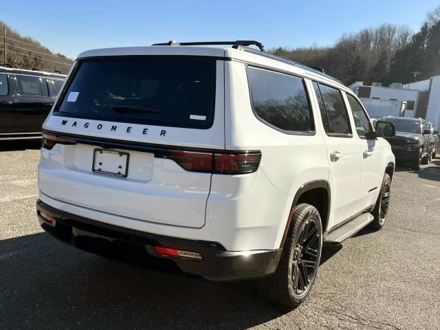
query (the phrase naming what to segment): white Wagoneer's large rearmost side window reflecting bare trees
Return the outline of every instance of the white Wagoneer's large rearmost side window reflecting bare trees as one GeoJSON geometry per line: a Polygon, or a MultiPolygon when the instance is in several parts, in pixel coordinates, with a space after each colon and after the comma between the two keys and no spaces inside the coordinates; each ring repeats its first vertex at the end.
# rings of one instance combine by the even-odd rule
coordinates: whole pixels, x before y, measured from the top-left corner
{"type": "Polygon", "coordinates": [[[314,130],[303,79],[254,67],[248,79],[257,118],[281,131],[314,130]]]}

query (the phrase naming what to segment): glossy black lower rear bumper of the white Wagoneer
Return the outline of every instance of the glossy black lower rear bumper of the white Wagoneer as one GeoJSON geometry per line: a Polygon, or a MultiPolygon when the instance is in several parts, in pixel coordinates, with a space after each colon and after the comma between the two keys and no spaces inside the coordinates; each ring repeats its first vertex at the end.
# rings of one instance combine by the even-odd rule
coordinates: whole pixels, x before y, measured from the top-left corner
{"type": "Polygon", "coordinates": [[[270,275],[275,272],[282,252],[282,249],[231,252],[217,242],[178,239],[78,217],[56,210],[41,200],[36,202],[36,210],[41,227],[46,232],[77,248],[111,256],[108,252],[132,245],[141,248],[148,256],[170,259],[183,272],[199,275],[210,281],[233,281],[270,275]],[[54,222],[48,223],[41,212],[53,217],[54,222]],[[155,246],[197,252],[203,259],[194,261],[162,256],[155,252],[155,246]]]}

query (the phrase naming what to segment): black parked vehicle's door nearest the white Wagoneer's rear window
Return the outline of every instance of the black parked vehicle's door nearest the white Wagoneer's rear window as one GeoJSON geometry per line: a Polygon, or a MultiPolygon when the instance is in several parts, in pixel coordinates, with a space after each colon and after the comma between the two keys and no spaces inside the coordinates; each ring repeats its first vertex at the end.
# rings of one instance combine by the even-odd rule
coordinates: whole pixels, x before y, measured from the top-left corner
{"type": "Polygon", "coordinates": [[[14,120],[17,133],[40,133],[41,125],[52,107],[45,78],[15,75],[17,100],[14,103],[14,120]]]}

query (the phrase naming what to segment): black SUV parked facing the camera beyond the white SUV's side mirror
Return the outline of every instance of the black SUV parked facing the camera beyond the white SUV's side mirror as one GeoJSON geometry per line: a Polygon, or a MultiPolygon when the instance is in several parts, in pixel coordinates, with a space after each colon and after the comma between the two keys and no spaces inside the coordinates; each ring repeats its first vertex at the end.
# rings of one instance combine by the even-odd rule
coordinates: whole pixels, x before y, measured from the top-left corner
{"type": "MultiPolygon", "coordinates": [[[[410,165],[419,170],[421,164],[428,164],[432,152],[431,131],[421,118],[385,117],[381,120],[392,122],[396,128],[394,137],[386,137],[391,144],[396,162],[410,165]]],[[[381,129],[380,126],[377,129],[381,129]]]]}

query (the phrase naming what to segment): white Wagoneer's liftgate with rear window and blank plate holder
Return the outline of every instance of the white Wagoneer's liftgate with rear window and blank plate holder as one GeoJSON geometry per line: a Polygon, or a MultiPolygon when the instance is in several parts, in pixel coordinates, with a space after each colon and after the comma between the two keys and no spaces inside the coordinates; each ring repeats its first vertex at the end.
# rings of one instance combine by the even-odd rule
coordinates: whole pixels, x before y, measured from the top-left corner
{"type": "Polygon", "coordinates": [[[225,146],[223,71],[223,61],[188,56],[80,61],[43,126],[77,143],[43,149],[41,192],[139,221],[202,227],[206,153],[225,146]]]}

